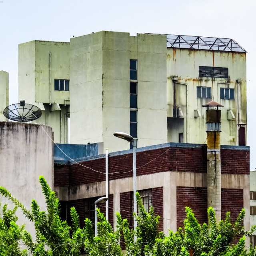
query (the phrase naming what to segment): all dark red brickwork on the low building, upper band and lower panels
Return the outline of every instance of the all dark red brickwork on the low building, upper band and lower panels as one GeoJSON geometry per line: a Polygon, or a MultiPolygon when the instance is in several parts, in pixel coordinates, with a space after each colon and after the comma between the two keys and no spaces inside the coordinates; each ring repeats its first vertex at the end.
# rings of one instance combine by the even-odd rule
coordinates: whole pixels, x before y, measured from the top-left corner
{"type": "MultiPolygon", "coordinates": [[[[187,147],[170,146],[153,147],[153,149],[149,150],[138,149],[136,160],[137,176],[160,172],[207,173],[206,146],[187,144],[187,147]]],[[[78,188],[79,185],[86,184],[89,186],[92,183],[106,180],[105,157],[103,155],[88,158],[88,160],[80,162],[80,164],[55,164],[54,185],[78,188]]],[[[249,167],[248,148],[221,148],[222,174],[249,174],[249,167]]],[[[109,180],[130,178],[132,175],[132,154],[110,153],[109,180]]],[[[152,189],[153,207],[156,215],[161,216],[159,230],[162,231],[164,230],[164,188],[161,186],[149,187],[148,189],[152,189]]],[[[183,226],[183,221],[186,218],[185,206],[192,208],[199,223],[207,222],[207,188],[177,185],[176,193],[177,228],[183,226]]],[[[84,206],[82,204],[83,200],[69,201],[68,207],[76,207],[78,214],[82,218],[84,216],[84,206]]],[[[112,195],[109,199],[109,220],[111,224],[114,223],[113,206],[112,195]]],[[[242,189],[222,189],[222,218],[225,218],[226,211],[230,211],[232,221],[234,221],[243,207],[242,189]]],[[[102,208],[102,212],[106,212],[106,209],[102,208]]],[[[120,213],[122,218],[126,218],[132,226],[131,191],[120,193],[120,213]]],[[[170,214],[168,213],[166,216],[170,216],[170,214]]]]}

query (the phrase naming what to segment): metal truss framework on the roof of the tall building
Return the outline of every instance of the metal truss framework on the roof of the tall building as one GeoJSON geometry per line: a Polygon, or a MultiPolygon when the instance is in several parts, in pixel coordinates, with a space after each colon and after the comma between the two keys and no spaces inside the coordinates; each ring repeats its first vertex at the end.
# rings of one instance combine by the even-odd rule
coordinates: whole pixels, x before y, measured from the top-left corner
{"type": "Polygon", "coordinates": [[[227,52],[246,52],[235,40],[206,36],[167,36],[167,47],[227,52]]]}

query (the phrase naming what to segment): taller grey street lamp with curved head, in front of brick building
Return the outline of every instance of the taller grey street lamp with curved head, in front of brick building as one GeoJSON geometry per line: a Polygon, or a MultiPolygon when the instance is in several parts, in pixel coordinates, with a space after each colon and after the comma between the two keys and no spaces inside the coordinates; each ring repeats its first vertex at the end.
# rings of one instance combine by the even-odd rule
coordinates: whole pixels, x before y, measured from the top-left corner
{"type": "MultiPolygon", "coordinates": [[[[130,134],[125,132],[114,132],[114,136],[132,142],[132,159],[133,159],[133,208],[137,215],[137,202],[136,202],[136,192],[137,192],[137,182],[136,182],[136,139],[134,139],[130,134]]],[[[134,230],[136,230],[137,221],[134,216],[134,230]]],[[[136,236],[134,237],[136,241],[136,236]]]]}

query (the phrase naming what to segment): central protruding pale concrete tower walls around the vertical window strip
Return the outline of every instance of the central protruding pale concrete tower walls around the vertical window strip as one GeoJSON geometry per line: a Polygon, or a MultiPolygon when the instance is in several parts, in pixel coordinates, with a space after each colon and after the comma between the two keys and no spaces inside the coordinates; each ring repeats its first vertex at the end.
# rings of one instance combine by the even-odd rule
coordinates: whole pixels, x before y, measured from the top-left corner
{"type": "Polygon", "coordinates": [[[70,47],[72,143],[130,148],[113,136],[130,133],[130,59],[138,60],[138,147],[167,142],[165,36],[102,31],[70,47]]]}

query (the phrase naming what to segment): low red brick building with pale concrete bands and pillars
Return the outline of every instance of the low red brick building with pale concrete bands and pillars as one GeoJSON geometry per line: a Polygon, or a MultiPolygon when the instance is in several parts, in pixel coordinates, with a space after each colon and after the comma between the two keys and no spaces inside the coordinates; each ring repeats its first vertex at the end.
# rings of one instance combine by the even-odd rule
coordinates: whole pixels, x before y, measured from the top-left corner
{"type": "MultiPolygon", "coordinates": [[[[118,140],[118,139],[116,139],[118,140]]],[[[128,142],[126,142],[128,143],[128,142]]],[[[144,206],[153,206],[160,215],[159,229],[167,235],[176,231],[186,218],[185,206],[190,206],[199,223],[207,222],[208,184],[207,147],[202,144],[166,143],[138,148],[137,190],[144,206]]],[[[221,146],[220,218],[227,211],[235,221],[240,210],[246,209],[244,226],[249,220],[249,147],[221,146]]],[[[94,221],[94,202],[106,195],[105,154],[81,158],[78,163],[54,160],[54,190],[62,205],[62,218],[70,220],[69,209],[74,206],[84,225],[84,218],[94,221]],[[90,169],[92,168],[92,169],[90,169]]],[[[132,222],[132,150],[109,153],[109,221],[116,224],[115,213],[132,222]]],[[[213,185],[214,186],[214,185],[213,185]]],[[[211,195],[215,196],[215,191],[211,195]]]]}

